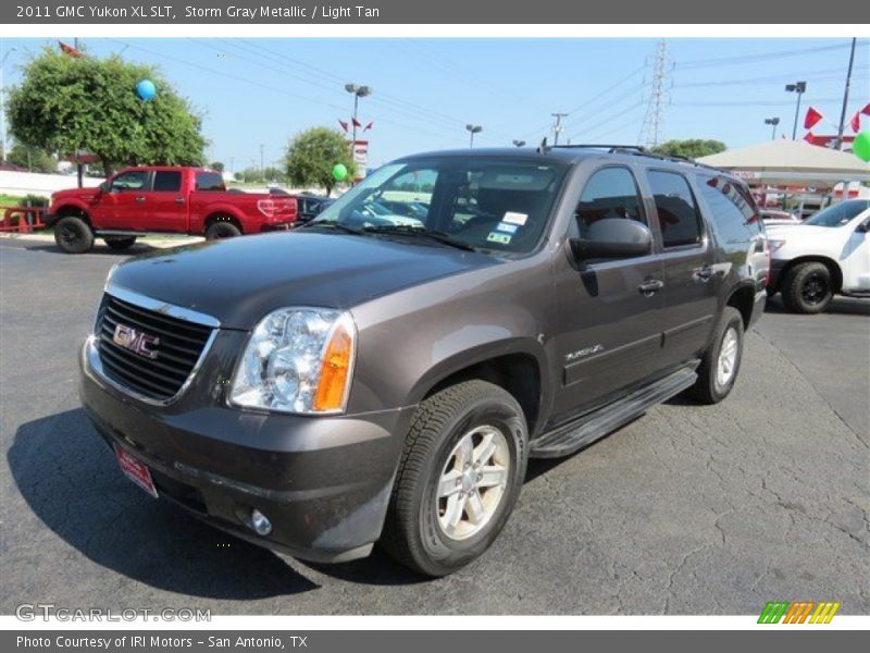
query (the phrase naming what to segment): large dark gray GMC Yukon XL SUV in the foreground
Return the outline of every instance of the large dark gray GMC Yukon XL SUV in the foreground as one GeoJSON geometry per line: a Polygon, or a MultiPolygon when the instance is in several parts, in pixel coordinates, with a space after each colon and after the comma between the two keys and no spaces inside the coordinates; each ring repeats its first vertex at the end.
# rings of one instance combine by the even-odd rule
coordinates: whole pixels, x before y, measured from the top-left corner
{"type": "Polygon", "coordinates": [[[116,266],[82,401],[132,480],[221,529],[446,575],[497,537],[530,456],[723,399],[768,261],[719,170],[619,146],[408,157],[295,232],[116,266]]]}

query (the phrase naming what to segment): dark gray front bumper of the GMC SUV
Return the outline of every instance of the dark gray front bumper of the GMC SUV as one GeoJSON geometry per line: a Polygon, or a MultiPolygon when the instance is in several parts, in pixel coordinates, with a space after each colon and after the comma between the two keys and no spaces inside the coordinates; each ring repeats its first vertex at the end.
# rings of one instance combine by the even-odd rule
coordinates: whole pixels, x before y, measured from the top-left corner
{"type": "Polygon", "coordinates": [[[80,396],[97,431],[148,465],[161,496],[209,523],[295,557],[344,562],[381,534],[402,434],[413,408],[303,417],[231,408],[233,356],[244,333],[219,330],[189,386],[166,406],[138,401],[82,353],[80,396]],[[256,534],[250,513],[271,520],[256,534]]]}

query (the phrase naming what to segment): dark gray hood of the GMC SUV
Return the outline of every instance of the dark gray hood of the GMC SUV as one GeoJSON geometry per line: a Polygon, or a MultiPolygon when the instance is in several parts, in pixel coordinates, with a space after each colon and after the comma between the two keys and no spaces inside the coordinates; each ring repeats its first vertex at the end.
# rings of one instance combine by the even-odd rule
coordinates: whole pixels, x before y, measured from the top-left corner
{"type": "Polygon", "coordinates": [[[499,260],[427,242],[290,232],[199,243],[128,259],[112,285],[251,329],[285,306],[348,308],[499,260]]]}

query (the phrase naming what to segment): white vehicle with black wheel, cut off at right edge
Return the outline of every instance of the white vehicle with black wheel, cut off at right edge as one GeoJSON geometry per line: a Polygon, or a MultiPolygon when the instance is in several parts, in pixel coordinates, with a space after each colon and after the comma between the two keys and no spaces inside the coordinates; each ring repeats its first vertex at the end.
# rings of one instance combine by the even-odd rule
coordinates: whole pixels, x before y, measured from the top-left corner
{"type": "Polygon", "coordinates": [[[870,296],[870,199],[832,205],[795,224],[767,226],[768,294],[788,310],[823,311],[835,294],[870,296]]]}

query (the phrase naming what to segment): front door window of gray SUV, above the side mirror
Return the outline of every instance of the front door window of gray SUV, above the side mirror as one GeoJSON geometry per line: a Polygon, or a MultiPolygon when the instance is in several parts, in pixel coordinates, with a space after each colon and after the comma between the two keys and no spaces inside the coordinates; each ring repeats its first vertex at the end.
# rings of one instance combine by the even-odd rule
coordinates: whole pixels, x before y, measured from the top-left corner
{"type": "Polygon", "coordinates": [[[623,218],[645,223],[643,202],[634,175],[627,168],[605,168],[594,173],[575,212],[581,237],[589,225],[602,218],[623,218]]]}

